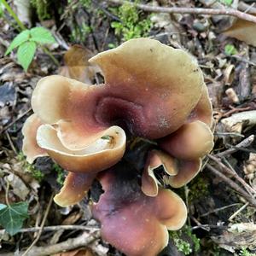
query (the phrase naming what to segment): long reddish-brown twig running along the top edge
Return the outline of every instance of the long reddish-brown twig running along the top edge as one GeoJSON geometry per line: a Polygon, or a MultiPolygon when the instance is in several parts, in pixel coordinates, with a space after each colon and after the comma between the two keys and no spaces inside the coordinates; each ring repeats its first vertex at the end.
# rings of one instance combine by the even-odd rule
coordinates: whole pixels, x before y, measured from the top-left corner
{"type": "Polygon", "coordinates": [[[108,0],[110,3],[124,4],[130,3],[137,7],[137,9],[142,9],[146,12],[152,13],[168,13],[168,14],[192,14],[192,15],[230,15],[240,18],[241,20],[248,20],[256,23],[256,17],[253,15],[245,14],[236,9],[205,9],[205,8],[186,8],[186,7],[159,7],[149,4],[131,3],[124,0],[108,0]]]}

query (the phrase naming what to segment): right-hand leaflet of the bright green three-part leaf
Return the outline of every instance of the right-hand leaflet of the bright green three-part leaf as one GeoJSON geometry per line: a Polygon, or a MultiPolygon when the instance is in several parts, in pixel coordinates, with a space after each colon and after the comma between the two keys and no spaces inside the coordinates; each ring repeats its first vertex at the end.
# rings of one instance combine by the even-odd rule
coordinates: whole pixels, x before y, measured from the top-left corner
{"type": "Polygon", "coordinates": [[[54,44],[56,42],[51,32],[43,26],[32,28],[30,33],[31,40],[39,44],[54,44]]]}

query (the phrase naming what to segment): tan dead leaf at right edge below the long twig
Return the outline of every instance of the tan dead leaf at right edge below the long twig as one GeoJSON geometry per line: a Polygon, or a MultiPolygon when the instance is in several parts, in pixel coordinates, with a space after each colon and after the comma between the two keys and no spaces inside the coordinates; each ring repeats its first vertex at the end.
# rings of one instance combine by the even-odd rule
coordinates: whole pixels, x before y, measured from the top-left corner
{"type": "Polygon", "coordinates": [[[228,37],[236,38],[247,44],[256,46],[256,24],[251,21],[237,19],[234,24],[223,33],[228,37]]]}

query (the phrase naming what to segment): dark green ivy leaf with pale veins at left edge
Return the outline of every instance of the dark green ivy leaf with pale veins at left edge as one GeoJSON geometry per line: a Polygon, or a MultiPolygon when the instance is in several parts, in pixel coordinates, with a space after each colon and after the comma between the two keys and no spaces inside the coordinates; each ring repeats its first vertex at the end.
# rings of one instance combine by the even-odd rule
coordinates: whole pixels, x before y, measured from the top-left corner
{"type": "Polygon", "coordinates": [[[28,203],[18,202],[4,207],[0,210],[0,225],[14,236],[22,227],[23,221],[28,218],[28,203]]]}

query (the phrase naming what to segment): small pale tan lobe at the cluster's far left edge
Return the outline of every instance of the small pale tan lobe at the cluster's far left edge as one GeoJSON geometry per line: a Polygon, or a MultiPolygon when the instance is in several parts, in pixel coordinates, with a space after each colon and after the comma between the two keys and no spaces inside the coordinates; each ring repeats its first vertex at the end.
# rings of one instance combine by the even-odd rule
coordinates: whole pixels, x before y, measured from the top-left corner
{"type": "Polygon", "coordinates": [[[44,148],[38,146],[36,136],[38,127],[42,125],[40,119],[36,114],[32,114],[26,119],[25,124],[22,127],[22,135],[24,136],[22,151],[26,155],[26,160],[32,163],[33,160],[40,156],[46,156],[47,152],[44,148]]]}

